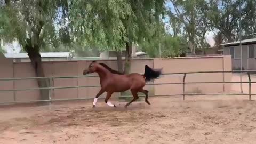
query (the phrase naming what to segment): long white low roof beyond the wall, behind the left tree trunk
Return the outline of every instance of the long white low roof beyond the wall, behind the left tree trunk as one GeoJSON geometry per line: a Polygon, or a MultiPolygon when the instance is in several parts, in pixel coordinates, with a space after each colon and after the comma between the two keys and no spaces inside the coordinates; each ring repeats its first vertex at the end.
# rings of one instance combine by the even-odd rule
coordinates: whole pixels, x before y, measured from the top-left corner
{"type": "MultiPolygon", "coordinates": [[[[42,58],[70,57],[70,52],[41,52],[42,58]]],[[[28,53],[5,53],[6,58],[29,58],[28,53]]]]}

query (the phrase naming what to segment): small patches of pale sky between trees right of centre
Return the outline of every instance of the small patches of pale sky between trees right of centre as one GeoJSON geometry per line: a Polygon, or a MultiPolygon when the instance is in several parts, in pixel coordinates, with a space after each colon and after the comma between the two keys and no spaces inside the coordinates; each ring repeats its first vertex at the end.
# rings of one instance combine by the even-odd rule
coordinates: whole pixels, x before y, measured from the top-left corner
{"type": "MultiPolygon", "coordinates": [[[[173,13],[175,13],[175,12],[173,11],[173,10],[174,10],[173,4],[172,4],[170,1],[167,1],[166,4],[165,4],[165,6],[168,7],[169,9],[171,9],[171,11],[172,11],[173,13]]],[[[164,22],[168,22],[168,21],[169,21],[169,18],[166,17],[163,21],[164,21],[164,22]]],[[[166,25],[170,27],[170,25],[169,25],[168,23],[166,23],[166,25]]],[[[173,33],[173,31],[172,31],[171,28],[169,29],[169,33],[171,33],[171,34],[173,33]]],[[[206,37],[206,41],[207,41],[211,46],[214,46],[215,41],[214,41],[214,39],[213,39],[213,37],[214,37],[213,31],[207,32],[205,37],[206,37]]]]}

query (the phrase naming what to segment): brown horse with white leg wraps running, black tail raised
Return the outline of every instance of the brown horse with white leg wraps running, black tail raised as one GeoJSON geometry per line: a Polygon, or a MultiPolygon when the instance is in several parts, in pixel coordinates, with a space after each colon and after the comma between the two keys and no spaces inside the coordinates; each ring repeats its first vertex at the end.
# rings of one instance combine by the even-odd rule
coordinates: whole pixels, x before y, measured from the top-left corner
{"type": "Polygon", "coordinates": [[[145,102],[150,105],[150,102],[148,101],[148,91],[144,90],[143,87],[147,81],[158,78],[161,75],[161,71],[162,69],[152,69],[146,65],[145,73],[143,75],[138,73],[125,75],[111,69],[104,63],[97,63],[96,61],[93,61],[89,65],[88,69],[83,71],[83,74],[87,75],[95,72],[98,73],[100,77],[101,90],[94,98],[93,107],[95,107],[99,96],[103,92],[107,92],[107,96],[105,98],[107,105],[110,107],[116,107],[110,101],[108,101],[111,97],[111,94],[114,92],[124,92],[130,89],[133,95],[133,99],[125,105],[125,107],[127,107],[133,101],[139,98],[137,94],[138,92],[142,92],[146,95],[145,102]]]}

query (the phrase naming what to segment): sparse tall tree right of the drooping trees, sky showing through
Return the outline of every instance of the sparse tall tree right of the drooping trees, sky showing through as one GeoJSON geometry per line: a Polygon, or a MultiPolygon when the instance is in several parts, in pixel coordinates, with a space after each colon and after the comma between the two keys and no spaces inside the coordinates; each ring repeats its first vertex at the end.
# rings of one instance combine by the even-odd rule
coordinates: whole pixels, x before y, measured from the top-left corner
{"type": "Polygon", "coordinates": [[[195,53],[197,48],[208,47],[206,33],[213,28],[209,19],[209,15],[211,15],[210,2],[204,0],[170,0],[170,2],[173,5],[173,9],[169,10],[171,26],[173,29],[183,26],[190,51],[195,53]],[[173,22],[177,20],[179,20],[179,26],[173,25],[173,22]]]}

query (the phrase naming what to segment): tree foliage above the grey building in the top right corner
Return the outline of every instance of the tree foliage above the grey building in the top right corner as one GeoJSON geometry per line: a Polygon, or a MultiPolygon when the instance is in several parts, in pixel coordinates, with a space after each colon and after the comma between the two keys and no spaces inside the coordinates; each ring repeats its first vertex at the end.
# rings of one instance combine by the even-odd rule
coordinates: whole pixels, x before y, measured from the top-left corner
{"type": "Polygon", "coordinates": [[[223,41],[239,40],[239,3],[241,2],[242,39],[252,38],[256,32],[256,1],[254,0],[212,0],[210,4],[212,27],[223,34],[223,41]]]}

